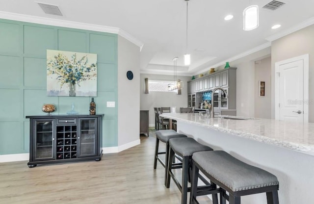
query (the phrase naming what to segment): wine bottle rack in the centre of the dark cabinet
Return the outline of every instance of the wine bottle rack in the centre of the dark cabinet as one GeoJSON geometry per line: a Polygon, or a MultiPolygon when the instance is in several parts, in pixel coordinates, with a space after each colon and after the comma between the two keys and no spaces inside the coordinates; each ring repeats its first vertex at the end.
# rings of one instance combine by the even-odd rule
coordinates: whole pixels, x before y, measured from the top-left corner
{"type": "Polygon", "coordinates": [[[57,126],[56,159],[77,158],[78,127],[57,126]]]}

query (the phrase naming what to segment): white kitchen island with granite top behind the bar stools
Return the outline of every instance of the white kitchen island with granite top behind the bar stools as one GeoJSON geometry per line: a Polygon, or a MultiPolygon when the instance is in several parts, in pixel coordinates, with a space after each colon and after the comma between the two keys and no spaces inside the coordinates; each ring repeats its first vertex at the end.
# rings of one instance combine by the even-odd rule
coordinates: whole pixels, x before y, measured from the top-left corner
{"type": "MultiPolygon", "coordinates": [[[[176,120],[179,133],[276,175],[280,204],[314,203],[314,123],[235,116],[209,118],[199,113],[160,116],[176,120]]],[[[244,196],[241,201],[267,203],[265,194],[244,196]]]]}

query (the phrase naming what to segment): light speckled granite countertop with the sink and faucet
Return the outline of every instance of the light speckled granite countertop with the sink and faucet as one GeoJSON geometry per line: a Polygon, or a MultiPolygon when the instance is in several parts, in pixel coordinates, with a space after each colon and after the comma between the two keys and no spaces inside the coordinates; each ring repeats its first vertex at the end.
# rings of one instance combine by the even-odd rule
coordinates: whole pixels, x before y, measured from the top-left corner
{"type": "Polygon", "coordinates": [[[163,113],[160,116],[314,155],[314,123],[299,124],[273,119],[235,116],[209,118],[208,116],[200,116],[199,113],[163,113]]]}

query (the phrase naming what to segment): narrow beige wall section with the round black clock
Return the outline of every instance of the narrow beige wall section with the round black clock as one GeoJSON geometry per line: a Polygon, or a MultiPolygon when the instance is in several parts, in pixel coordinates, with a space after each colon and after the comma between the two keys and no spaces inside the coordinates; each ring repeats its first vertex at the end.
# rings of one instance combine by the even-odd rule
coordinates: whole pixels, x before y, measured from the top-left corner
{"type": "MultiPolygon", "coordinates": [[[[118,36],[118,146],[139,144],[139,47],[118,36]],[[127,78],[127,71],[133,79],[127,78]]],[[[132,145],[129,145],[129,147],[132,145]]]]}

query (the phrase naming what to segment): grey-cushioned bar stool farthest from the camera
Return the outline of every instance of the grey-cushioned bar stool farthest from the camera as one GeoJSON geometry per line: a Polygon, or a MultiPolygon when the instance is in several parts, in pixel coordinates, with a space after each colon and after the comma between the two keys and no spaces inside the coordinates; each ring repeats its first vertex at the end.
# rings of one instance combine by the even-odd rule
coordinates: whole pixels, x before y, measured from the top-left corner
{"type": "Polygon", "coordinates": [[[155,156],[154,156],[154,169],[157,167],[157,160],[161,163],[161,165],[165,168],[165,185],[166,185],[166,178],[167,178],[167,165],[168,165],[168,155],[169,155],[169,139],[171,138],[182,138],[187,137],[184,134],[179,134],[173,129],[164,129],[156,131],[156,146],[155,146],[155,156]],[[159,148],[159,141],[166,143],[166,151],[165,152],[158,152],[159,148]],[[165,163],[163,163],[162,159],[158,156],[159,154],[166,154],[165,155],[165,163]]]}

